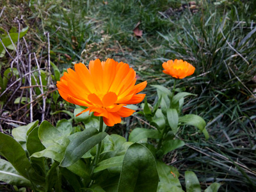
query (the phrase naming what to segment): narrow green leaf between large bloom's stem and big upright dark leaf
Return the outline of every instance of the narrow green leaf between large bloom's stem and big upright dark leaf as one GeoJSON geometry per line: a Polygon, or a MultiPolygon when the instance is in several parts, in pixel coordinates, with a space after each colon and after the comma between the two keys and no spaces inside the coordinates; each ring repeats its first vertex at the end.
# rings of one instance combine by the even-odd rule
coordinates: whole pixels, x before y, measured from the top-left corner
{"type": "Polygon", "coordinates": [[[124,156],[116,156],[111,157],[109,159],[100,161],[98,166],[93,170],[94,173],[100,172],[102,170],[106,170],[108,168],[111,168],[113,166],[122,166],[124,160],[124,156]]]}

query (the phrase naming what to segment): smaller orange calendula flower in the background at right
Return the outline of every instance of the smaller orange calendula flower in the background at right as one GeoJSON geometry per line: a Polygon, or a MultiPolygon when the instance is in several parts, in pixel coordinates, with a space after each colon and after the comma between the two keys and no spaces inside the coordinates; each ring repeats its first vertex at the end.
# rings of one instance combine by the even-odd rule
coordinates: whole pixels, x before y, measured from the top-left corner
{"type": "Polygon", "coordinates": [[[195,67],[183,60],[169,60],[163,63],[163,72],[177,79],[191,76],[195,72],[195,67]]]}

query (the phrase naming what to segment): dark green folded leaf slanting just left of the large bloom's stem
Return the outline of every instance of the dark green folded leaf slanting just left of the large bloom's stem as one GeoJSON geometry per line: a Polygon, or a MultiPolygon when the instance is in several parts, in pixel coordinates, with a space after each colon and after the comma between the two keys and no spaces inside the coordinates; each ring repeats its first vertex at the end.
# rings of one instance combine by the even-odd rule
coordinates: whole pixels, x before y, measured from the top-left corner
{"type": "Polygon", "coordinates": [[[85,129],[70,141],[60,166],[66,167],[78,161],[88,150],[97,145],[107,136],[95,128],[85,129]]]}

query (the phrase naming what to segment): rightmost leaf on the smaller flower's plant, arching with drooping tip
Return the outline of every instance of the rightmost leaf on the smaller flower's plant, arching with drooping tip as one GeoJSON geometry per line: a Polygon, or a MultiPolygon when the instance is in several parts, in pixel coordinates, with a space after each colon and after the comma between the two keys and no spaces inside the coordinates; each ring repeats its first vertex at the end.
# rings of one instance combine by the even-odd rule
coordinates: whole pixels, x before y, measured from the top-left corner
{"type": "Polygon", "coordinates": [[[201,116],[194,115],[194,114],[184,115],[179,118],[179,122],[185,125],[192,125],[197,127],[201,132],[204,132],[205,138],[206,140],[208,140],[209,134],[205,129],[206,123],[201,116]]]}

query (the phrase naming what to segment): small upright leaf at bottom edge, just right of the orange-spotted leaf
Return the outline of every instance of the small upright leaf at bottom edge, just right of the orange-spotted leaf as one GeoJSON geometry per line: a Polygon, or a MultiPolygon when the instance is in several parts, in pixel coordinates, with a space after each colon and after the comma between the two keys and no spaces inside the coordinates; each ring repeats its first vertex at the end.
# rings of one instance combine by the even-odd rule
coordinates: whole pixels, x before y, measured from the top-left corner
{"type": "Polygon", "coordinates": [[[200,183],[194,172],[185,172],[185,182],[187,192],[201,192],[200,183]]]}

